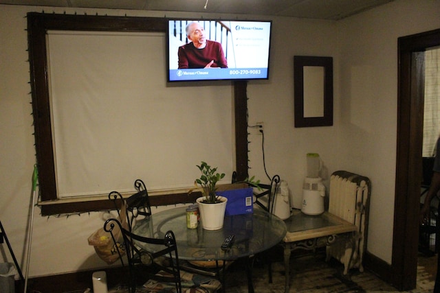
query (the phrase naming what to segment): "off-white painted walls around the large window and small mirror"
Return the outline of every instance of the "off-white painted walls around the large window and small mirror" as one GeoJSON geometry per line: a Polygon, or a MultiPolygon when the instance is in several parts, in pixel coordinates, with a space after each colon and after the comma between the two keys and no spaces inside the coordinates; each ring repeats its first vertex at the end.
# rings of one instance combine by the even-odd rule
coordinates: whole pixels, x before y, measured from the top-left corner
{"type": "MultiPolygon", "coordinates": [[[[35,163],[25,14],[41,10],[0,5],[0,220],[21,263],[25,262],[35,163]]],[[[132,10],[44,10],[164,15],[132,10]]],[[[249,122],[264,122],[270,176],[279,174],[294,194],[300,194],[307,152],[318,152],[329,174],[349,169],[369,176],[373,181],[369,250],[388,262],[394,209],[397,37],[439,28],[439,10],[439,0],[397,0],[339,22],[263,17],[274,21],[271,76],[248,83],[249,122]],[[294,55],[333,56],[332,127],[294,128],[294,55]],[[389,224],[384,226],[384,222],[389,224]]],[[[265,179],[259,139],[250,137],[250,174],[265,179]]],[[[87,237],[103,223],[102,213],[42,218],[36,207],[34,215],[31,277],[107,266],[87,244],[87,237]]]]}

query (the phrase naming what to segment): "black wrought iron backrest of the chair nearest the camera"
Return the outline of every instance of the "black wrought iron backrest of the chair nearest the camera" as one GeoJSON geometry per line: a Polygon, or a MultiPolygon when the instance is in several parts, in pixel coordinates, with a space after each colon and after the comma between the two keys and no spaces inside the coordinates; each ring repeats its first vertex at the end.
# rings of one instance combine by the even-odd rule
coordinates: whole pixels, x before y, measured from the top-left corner
{"type": "Polygon", "coordinates": [[[119,231],[124,239],[124,249],[129,262],[129,285],[132,293],[135,292],[137,285],[144,284],[146,281],[152,287],[156,283],[160,283],[162,286],[164,284],[170,287],[174,286],[175,292],[181,293],[179,256],[173,231],[166,232],[163,238],[143,237],[125,229],[114,218],[104,223],[104,231],[111,234],[115,243],[120,237],[119,231]],[[142,244],[151,246],[151,251],[154,253],[140,248],[142,244]]]}

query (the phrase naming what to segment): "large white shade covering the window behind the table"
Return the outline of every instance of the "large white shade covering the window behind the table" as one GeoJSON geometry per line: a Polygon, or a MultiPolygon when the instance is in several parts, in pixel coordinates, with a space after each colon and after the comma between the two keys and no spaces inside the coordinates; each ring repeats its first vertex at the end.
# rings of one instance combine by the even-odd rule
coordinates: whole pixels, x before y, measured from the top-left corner
{"type": "Polygon", "coordinates": [[[191,187],[200,161],[230,180],[230,84],[167,86],[164,48],[164,33],[49,32],[58,198],[191,187]]]}

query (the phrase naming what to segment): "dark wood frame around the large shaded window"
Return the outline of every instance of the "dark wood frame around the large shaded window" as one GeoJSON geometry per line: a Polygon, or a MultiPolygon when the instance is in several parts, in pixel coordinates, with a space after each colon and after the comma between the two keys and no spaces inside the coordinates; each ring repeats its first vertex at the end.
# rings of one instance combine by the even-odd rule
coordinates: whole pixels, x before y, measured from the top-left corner
{"type": "MultiPolygon", "coordinates": [[[[36,161],[39,168],[41,214],[81,213],[113,209],[109,200],[65,202],[58,200],[52,126],[50,121],[50,95],[47,75],[47,30],[82,30],[109,32],[166,32],[166,19],[127,16],[89,16],[69,14],[28,13],[28,43],[32,110],[35,128],[36,161]]],[[[236,179],[248,177],[248,121],[247,82],[234,82],[234,117],[236,144],[236,179]]],[[[133,182],[136,178],[133,178],[133,182]]],[[[200,196],[194,192],[152,196],[151,205],[195,202],[200,196]]]]}

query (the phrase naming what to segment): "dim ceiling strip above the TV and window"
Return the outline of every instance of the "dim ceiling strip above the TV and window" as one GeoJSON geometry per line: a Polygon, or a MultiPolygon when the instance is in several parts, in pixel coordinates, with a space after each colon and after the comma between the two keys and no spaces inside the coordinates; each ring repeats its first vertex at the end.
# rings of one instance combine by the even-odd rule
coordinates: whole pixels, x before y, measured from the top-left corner
{"type": "Polygon", "coordinates": [[[0,0],[0,4],[338,20],[391,1],[393,0],[0,0]]]}

